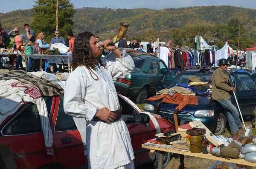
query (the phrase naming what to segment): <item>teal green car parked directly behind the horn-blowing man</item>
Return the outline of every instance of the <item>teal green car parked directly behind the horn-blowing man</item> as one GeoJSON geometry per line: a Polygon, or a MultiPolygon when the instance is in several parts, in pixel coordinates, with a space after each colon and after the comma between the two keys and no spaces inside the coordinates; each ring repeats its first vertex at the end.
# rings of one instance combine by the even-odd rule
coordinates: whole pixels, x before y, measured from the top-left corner
{"type": "MultiPolygon", "coordinates": [[[[131,97],[135,103],[142,104],[149,96],[156,93],[157,83],[168,71],[166,64],[157,56],[125,48],[133,58],[135,68],[125,78],[113,79],[116,91],[131,97]]],[[[102,59],[115,60],[113,53],[102,59]]]]}

